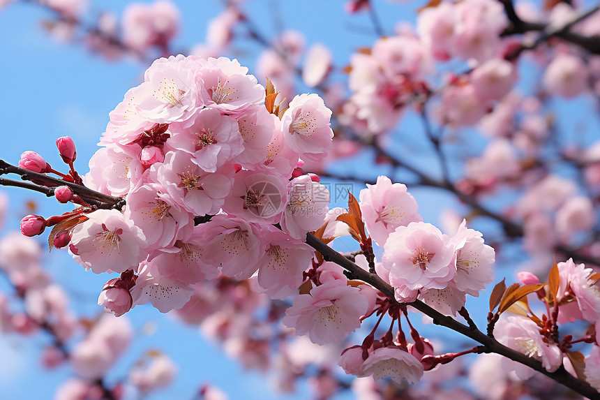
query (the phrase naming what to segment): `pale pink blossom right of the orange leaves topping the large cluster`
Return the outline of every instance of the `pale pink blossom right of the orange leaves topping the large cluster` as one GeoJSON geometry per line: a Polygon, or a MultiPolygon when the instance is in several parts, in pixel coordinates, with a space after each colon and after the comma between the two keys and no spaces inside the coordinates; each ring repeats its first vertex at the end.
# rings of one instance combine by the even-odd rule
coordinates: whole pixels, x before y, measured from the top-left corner
{"type": "Polygon", "coordinates": [[[281,118],[283,135],[301,157],[324,158],[333,147],[333,131],[329,127],[331,110],[317,94],[301,94],[290,101],[281,118]]]}

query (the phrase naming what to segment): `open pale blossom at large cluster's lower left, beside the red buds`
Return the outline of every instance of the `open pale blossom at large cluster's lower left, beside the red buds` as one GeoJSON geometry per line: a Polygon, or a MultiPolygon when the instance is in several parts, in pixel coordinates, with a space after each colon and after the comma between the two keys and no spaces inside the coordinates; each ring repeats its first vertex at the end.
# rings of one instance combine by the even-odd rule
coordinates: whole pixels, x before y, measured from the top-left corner
{"type": "Polygon", "coordinates": [[[73,228],[70,251],[95,274],[123,272],[137,267],[146,256],[144,233],[116,209],[98,209],[73,228]]]}

